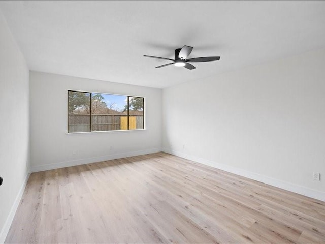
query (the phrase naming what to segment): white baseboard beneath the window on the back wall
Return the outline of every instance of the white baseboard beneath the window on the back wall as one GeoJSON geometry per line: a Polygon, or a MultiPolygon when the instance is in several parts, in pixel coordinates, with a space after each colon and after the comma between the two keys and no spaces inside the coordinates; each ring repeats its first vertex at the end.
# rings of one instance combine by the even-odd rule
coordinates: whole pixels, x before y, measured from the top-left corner
{"type": "Polygon", "coordinates": [[[71,161],[59,162],[59,163],[54,163],[54,164],[32,166],[31,172],[59,169],[59,168],[64,168],[64,167],[70,167],[70,166],[76,166],[76,165],[82,165],[82,164],[90,164],[90,163],[101,162],[101,161],[112,160],[112,159],[121,159],[121,158],[126,158],[126,157],[144,155],[144,154],[153,154],[153,153],[158,153],[159,151],[162,151],[162,150],[163,150],[162,148],[152,148],[152,149],[140,150],[140,151],[129,151],[126,153],[121,153],[121,154],[104,155],[104,156],[100,156],[100,157],[93,157],[93,158],[87,158],[87,159],[78,159],[78,160],[71,160],[71,161]]]}

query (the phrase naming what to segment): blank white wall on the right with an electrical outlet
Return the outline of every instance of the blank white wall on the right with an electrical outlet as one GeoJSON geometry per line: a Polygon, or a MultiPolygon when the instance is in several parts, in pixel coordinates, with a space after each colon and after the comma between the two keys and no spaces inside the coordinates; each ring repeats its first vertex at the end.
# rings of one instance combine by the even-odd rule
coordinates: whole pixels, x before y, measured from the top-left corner
{"type": "Polygon", "coordinates": [[[163,101],[166,151],[325,200],[325,49],[166,88],[163,101]]]}

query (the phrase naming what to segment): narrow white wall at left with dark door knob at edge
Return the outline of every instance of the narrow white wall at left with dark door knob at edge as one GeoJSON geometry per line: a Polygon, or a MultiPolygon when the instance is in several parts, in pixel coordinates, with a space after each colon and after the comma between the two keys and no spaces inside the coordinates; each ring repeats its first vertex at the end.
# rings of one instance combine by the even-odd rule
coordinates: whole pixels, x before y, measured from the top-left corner
{"type": "Polygon", "coordinates": [[[29,70],[0,12],[0,243],[28,178],[29,70]]]}

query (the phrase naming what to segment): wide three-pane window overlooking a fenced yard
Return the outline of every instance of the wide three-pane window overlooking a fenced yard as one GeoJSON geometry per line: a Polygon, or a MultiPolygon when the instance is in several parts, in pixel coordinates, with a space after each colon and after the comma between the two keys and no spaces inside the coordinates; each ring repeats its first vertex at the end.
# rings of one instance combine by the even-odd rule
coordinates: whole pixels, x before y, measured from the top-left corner
{"type": "Polygon", "coordinates": [[[144,129],[144,98],[68,90],[68,133],[144,129]]]}

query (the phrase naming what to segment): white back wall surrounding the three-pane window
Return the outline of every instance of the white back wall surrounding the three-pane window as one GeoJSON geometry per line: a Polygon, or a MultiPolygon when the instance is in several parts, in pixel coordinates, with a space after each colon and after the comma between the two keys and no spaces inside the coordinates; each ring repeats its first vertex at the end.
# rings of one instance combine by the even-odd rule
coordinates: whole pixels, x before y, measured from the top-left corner
{"type": "Polygon", "coordinates": [[[161,89],[30,72],[32,171],[160,151],[162,122],[161,89]],[[67,90],[145,97],[146,130],[67,134],[67,90]]]}

